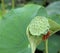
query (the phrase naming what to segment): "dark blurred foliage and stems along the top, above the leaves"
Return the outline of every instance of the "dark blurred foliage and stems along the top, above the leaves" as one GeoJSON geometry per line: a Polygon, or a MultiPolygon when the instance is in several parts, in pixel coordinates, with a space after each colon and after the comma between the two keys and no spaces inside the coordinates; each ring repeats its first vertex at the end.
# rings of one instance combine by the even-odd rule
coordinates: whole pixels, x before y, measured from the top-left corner
{"type": "Polygon", "coordinates": [[[4,4],[3,7],[5,9],[11,9],[12,7],[13,8],[21,7],[27,3],[35,3],[46,7],[47,5],[55,1],[59,1],[59,0],[0,0],[0,10],[2,10],[3,4],[4,4]]]}

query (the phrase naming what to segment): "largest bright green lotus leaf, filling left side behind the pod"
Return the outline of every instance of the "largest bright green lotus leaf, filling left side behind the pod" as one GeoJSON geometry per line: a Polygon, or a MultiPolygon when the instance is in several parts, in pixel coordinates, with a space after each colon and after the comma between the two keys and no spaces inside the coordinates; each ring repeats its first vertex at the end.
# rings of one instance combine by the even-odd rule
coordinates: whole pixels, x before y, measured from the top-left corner
{"type": "Polygon", "coordinates": [[[31,53],[26,28],[37,14],[47,16],[43,7],[28,4],[22,8],[13,9],[2,17],[0,20],[0,53],[31,53]]]}

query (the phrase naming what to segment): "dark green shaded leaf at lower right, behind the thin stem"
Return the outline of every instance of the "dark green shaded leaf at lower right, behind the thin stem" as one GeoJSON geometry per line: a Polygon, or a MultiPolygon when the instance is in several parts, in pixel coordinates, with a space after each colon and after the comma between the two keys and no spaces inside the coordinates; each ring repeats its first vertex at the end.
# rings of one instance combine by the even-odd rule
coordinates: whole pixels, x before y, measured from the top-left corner
{"type": "MultiPolygon", "coordinates": [[[[48,50],[49,53],[58,53],[60,52],[60,36],[54,34],[53,36],[49,37],[49,42],[48,42],[48,50]]],[[[42,42],[38,47],[39,50],[44,51],[45,50],[45,43],[42,42]]]]}

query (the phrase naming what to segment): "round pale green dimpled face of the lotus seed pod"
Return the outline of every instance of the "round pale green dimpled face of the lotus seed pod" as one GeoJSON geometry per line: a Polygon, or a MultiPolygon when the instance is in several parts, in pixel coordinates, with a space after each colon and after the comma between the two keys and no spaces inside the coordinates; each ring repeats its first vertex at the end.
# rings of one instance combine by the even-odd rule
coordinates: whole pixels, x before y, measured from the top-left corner
{"type": "Polygon", "coordinates": [[[49,28],[50,26],[48,23],[48,19],[43,16],[36,16],[34,19],[32,19],[28,26],[30,34],[34,36],[41,36],[47,34],[49,28]]]}

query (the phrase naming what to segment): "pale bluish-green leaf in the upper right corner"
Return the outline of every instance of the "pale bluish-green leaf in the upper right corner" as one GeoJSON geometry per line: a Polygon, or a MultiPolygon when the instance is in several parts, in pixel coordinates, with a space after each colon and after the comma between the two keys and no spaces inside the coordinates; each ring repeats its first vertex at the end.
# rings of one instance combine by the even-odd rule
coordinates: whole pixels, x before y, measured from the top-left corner
{"type": "Polygon", "coordinates": [[[46,9],[49,15],[60,14],[60,1],[51,3],[46,9]]]}

